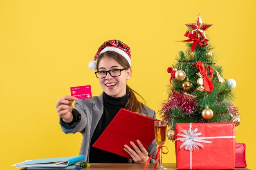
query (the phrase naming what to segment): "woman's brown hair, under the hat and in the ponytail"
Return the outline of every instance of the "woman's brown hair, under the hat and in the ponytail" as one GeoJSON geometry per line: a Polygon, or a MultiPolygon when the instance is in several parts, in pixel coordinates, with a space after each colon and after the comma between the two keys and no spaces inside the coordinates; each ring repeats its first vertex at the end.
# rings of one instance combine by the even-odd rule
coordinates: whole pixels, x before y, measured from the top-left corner
{"type": "MultiPolygon", "coordinates": [[[[124,68],[130,68],[128,61],[121,54],[114,52],[114,51],[106,51],[106,52],[101,53],[97,58],[97,70],[99,70],[99,62],[101,61],[101,59],[103,57],[109,57],[111,59],[114,59],[115,61],[117,61],[117,63],[122,65],[124,68]]],[[[144,105],[141,102],[139,102],[139,100],[136,98],[135,93],[145,103],[144,98],[141,95],[139,95],[137,92],[135,92],[133,89],[131,89],[127,84],[126,84],[126,91],[129,94],[129,98],[128,98],[128,101],[125,106],[126,109],[135,111],[137,113],[140,113],[141,108],[144,109],[144,111],[146,111],[144,105]]],[[[146,113],[148,113],[148,112],[146,111],[146,113]]]]}

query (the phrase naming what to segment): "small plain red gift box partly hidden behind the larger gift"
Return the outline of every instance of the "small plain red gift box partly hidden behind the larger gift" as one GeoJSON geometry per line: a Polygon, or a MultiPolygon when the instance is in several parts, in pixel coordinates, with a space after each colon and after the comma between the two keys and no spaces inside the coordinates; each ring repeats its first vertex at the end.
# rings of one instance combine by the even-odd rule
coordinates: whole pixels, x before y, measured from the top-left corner
{"type": "Polygon", "coordinates": [[[245,168],[245,144],[236,142],[236,164],[235,168],[245,168]]]}

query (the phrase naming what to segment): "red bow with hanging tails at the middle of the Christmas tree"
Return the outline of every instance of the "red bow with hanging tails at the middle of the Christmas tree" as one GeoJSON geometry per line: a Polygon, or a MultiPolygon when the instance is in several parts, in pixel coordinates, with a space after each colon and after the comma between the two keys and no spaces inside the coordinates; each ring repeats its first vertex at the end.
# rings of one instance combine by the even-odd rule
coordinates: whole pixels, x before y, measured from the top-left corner
{"type": "Polygon", "coordinates": [[[211,93],[214,87],[213,82],[211,81],[211,78],[213,77],[213,68],[210,66],[207,66],[207,68],[204,70],[204,63],[198,61],[196,64],[196,67],[200,70],[200,74],[204,78],[204,90],[208,93],[211,93]],[[207,75],[207,70],[209,69],[209,77],[207,75]]]}

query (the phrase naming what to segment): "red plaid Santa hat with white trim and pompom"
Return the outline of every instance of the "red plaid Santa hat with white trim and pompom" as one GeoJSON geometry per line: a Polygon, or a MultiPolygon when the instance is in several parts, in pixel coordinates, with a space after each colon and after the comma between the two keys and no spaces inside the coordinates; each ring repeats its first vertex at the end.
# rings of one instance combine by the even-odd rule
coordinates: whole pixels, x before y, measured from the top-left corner
{"type": "Polygon", "coordinates": [[[90,63],[88,64],[88,67],[91,70],[96,70],[97,66],[96,66],[96,60],[97,57],[99,56],[99,54],[106,52],[106,51],[115,51],[119,54],[121,54],[129,63],[129,65],[131,66],[131,51],[130,51],[130,47],[127,46],[126,44],[124,44],[123,42],[114,39],[114,40],[109,40],[104,42],[99,50],[97,51],[97,53],[94,56],[93,61],[90,61],[90,63]]]}

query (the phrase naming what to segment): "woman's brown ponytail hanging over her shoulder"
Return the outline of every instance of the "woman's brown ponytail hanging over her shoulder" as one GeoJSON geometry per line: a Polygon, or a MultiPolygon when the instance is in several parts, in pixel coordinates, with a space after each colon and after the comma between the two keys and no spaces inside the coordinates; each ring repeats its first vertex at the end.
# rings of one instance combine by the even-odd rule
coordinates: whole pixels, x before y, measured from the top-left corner
{"type": "MultiPolygon", "coordinates": [[[[137,92],[135,92],[133,89],[131,89],[128,85],[126,85],[126,91],[128,92],[129,98],[128,101],[126,103],[126,109],[129,109],[131,111],[140,113],[141,109],[143,109],[144,111],[146,111],[143,103],[139,102],[138,99],[135,96],[135,93],[143,100],[143,102],[145,103],[144,98],[139,95],[137,92]]],[[[148,111],[146,111],[146,113],[148,114],[148,111]]]]}

